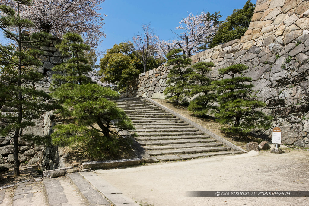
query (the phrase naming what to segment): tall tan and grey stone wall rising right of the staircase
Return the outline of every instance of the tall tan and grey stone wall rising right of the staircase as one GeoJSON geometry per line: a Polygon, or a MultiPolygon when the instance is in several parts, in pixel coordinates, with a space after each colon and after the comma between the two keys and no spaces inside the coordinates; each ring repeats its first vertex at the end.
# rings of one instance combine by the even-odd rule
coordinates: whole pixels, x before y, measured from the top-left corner
{"type": "MultiPolygon", "coordinates": [[[[191,57],[192,63],[214,62],[210,78],[230,78],[218,69],[233,64],[249,67],[261,108],[282,130],[282,143],[309,147],[309,1],[257,0],[252,22],[245,35],[191,57]]],[[[128,86],[126,96],[165,99],[167,75],[171,67],[159,66],[142,73],[128,86]]],[[[189,100],[196,98],[192,97],[189,100]]],[[[271,139],[272,128],[256,131],[271,139]]]]}

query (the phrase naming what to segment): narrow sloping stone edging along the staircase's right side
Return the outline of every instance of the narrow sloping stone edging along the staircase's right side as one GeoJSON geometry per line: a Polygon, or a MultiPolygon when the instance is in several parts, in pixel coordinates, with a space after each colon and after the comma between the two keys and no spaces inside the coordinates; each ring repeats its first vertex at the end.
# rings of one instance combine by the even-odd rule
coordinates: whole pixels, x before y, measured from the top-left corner
{"type": "Polygon", "coordinates": [[[155,105],[157,105],[158,107],[164,109],[165,111],[168,111],[168,112],[170,112],[171,114],[177,116],[177,117],[180,118],[181,120],[184,120],[185,122],[191,124],[192,126],[194,126],[195,128],[201,130],[202,132],[205,132],[206,134],[210,135],[211,137],[213,137],[213,138],[216,139],[217,141],[222,142],[222,143],[226,144],[227,146],[229,146],[229,147],[231,147],[231,148],[233,148],[233,149],[235,149],[235,150],[239,150],[239,151],[242,151],[242,152],[247,152],[246,150],[241,149],[239,146],[236,146],[236,145],[234,145],[233,143],[227,141],[226,139],[224,139],[224,138],[218,136],[218,135],[215,134],[214,132],[211,132],[211,131],[209,131],[208,129],[203,128],[202,126],[200,126],[200,125],[196,124],[195,122],[193,122],[193,121],[191,121],[191,120],[185,118],[184,116],[178,114],[177,112],[172,111],[171,109],[169,109],[169,108],[167,108],[167,107],[164,107],[163,105],[161,105],[161,104],[155,102],[154,100],[152,100],[152,99],[150,99],[150,98],[145,98],[145,99],[148,100],[148,101],[151,102],[151,103],[154,103],[155,105]]]}

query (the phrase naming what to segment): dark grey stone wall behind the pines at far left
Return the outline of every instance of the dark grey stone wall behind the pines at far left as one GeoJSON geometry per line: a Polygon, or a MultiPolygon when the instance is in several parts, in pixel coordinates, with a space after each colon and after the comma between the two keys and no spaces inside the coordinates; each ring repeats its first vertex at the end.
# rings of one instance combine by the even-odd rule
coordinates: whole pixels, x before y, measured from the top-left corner
{"type": "MultiPolygon", "coordinates": [[[[55,48],[55,45],[60,44],[61,40],[56,37],[49,40],[43,46],[40,46],[41,51],[44,55],[40,57],[42,66],[38,67],[38,72],[44,74],[44,78],[40,82],[35,84],[29,84],[27,86],[33,86],[36,90],[42,90],[46,93],[50,93],[49,87],[52,82],[51,77],[53,74],[61,74],[58,71],[51,71],[51,69],[62,62],[67,61],[69,58],[63,56],[59,49],[55,48]]],[[[46,103],[54,100],[47,100],[46,103]]],[[[3,106],[0,109],[1,112],[14,112],[12,108],[3,106]]],[[[33,120],[35,126],[24,129],[24,133],[33,135],[50,135],[52,132],[53,123],[53,112],[48,111],[42,113],[40,119],[33,120]]],[[[45,147],[44,145],[34,145],[32,142],[18,141],[19,161],[21,166],[24,165],[35,165],[39,164],[40,169],[55,169],[63,166],[63,158],[60,155],[61,149],[58,147],[45,147]]],[[[11,137],[0,137],[0,166],[8,168],[14,167],[13,160],[13,139],[11,137]]]]}

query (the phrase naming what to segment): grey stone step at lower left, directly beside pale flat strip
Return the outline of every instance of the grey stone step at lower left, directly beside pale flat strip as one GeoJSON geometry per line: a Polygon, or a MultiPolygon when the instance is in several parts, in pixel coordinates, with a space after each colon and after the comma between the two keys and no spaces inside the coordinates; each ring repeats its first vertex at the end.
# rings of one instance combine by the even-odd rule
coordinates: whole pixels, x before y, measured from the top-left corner
{"type": "Polygon", "coordinates": [[[111,206],[103,194],[97,191],[83,176],[79,173],[70,173],[66,176],[78,188],[81,195],[88,201],[89,205],[111,206]]]}

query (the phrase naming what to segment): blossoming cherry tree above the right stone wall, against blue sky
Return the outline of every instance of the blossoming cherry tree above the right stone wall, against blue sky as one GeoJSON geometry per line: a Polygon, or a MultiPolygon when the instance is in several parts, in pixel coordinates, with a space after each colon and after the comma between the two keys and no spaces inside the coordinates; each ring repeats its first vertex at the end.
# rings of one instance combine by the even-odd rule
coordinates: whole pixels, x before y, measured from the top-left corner
{"type": "Polygon", "coordinates": [[[180,34],[172,31],[177,36],[175,44],[183,50],[183,53],[190,57],[200,50],[200,45],[205,42],[208,37],[215,35],[217,28],[213,27],[213,21],[207,21],[207,14],[193,15],[190,13],[186,18],[182,18],[179,22],[181,25],[176,30],[182,30],[180,34]]]}

